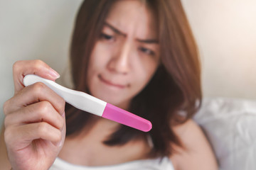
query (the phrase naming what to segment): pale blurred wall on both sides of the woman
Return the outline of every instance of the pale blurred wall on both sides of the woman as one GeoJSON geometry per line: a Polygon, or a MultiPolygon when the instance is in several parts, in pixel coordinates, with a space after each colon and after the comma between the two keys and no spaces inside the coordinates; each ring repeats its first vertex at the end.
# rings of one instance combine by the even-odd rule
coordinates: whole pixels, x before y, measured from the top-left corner
{"type": "MultiPolygon", "coordinates": [[[[0,0],[0,125],[12,64],[41,59],[63,74],[82,0],[0,0]]],[[[202,61],[203,96],[256,99],[256,1],[183,0],[202,61]]]]}

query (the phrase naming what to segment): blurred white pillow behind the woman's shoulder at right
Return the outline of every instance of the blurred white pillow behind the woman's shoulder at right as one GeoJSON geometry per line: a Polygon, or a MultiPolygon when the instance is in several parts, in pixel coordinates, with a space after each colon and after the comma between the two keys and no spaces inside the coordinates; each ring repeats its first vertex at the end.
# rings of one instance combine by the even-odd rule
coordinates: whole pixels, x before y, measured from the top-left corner
{"type": "Polygon", "coordinates": [[[256,101],[204,98],[194,120],[206,133],[221,170],[256,169],[256,101]]]}

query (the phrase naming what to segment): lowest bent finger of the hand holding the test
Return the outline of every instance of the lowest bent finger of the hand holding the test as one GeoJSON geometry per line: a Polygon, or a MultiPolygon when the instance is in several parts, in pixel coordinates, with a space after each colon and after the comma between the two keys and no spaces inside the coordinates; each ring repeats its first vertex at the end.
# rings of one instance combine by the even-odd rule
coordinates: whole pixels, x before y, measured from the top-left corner
{"type": "Polygon", "coordinates": [[[46,140],[58,144],[61,142],[62,133],[57,128],[48,123],[31,123],[20,126],[12,126],[6,128],[4,132],[5,142],[11,146],[12,149],[18,150],[31,145],[33,140],[46,140]]]}

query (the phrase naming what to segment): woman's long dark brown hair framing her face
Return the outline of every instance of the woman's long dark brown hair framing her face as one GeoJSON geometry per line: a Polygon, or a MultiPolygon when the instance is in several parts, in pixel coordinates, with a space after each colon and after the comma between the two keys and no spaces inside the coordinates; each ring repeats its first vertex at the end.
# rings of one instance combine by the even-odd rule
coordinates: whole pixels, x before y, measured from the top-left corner
{"type": "MultiPolygon", "coordinates": [[[[80,6],[70,49],[75,90],[89,93],[87,64],[100,37],[102,26],[116,0],[85,0],[80,6]]],[[[151,121],[148,133],[124,125],[113,132],[105,145],[124,145],[129,140],[150,135],[151,154],[167,156],[171,144],[181,146],[172,126],[184,123],[201,106],[201,69],[196,42],[179,0],[147,0],[157,18],[161,64],[149,84],[132,100],[129,111],[151,121]]],[[[92,115],[67,105],[67,136],[78,135],[92,115]]]]}

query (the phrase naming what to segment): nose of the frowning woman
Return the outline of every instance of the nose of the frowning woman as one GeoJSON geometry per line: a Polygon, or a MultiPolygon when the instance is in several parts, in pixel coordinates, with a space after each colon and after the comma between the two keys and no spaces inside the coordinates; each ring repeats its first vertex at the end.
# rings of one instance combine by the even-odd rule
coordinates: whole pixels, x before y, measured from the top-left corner
{"type": "Polygon", "coordinates": [[[108,64],[110,72],[118,74],[128,74],[130,71],[129,55],[132,45],[129,42],[124,43],[117,52],[113,54],[108,64]]]}

